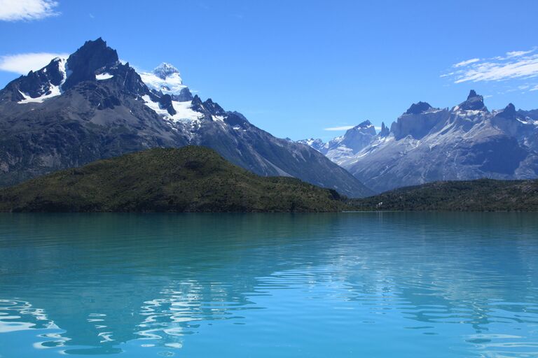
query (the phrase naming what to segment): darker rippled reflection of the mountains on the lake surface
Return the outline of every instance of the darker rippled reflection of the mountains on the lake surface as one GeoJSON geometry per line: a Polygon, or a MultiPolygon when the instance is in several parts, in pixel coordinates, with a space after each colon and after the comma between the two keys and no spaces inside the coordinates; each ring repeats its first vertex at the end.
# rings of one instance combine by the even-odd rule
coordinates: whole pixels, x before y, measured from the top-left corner
{"type": "Polygon", "coordinates": [[[502,215],[1,217],[0,335],[48,329],[41,345],[78,353],[180,348],[289,295],[360,308],[343,317],[366,323],[393,313],[417,333],[536,322],[538,224],[502,215]]]}

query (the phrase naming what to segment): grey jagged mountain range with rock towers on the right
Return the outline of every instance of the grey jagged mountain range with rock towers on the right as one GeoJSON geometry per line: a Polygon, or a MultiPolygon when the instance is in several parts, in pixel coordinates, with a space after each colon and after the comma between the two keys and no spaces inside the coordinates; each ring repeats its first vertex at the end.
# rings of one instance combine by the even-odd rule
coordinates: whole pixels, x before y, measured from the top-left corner
{"type": "Polygon", "coordinates": [[[510,103],[490,111],[471,90],[450,109],[413,103],[363,145],[361,138],[358,151],[326,155],[375,192],[439,180],[532,179],[538,176],[538,110],[510,103]]]}

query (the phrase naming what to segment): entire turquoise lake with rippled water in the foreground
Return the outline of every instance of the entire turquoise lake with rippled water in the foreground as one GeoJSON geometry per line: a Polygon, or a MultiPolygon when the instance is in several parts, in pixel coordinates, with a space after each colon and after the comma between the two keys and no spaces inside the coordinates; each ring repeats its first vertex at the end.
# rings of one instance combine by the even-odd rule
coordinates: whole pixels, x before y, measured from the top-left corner
{"type": "Polygon", "coordinates": [[[538,357],[538,215],[0,215],[0,357],[538,357]]]}

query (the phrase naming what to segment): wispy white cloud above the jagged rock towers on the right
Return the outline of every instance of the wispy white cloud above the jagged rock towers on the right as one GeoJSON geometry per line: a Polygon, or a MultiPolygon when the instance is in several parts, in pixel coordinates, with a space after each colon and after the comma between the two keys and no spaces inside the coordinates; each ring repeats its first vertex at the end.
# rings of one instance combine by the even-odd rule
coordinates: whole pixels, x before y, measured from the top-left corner
{"type": "Polygon", "coordinates": [[[456,71],[445,73],[454,83],[488,82],[538,76],[537,48],[506,52],[504,56],[489,59],[469,59],[453,65],[456,71]]]}

